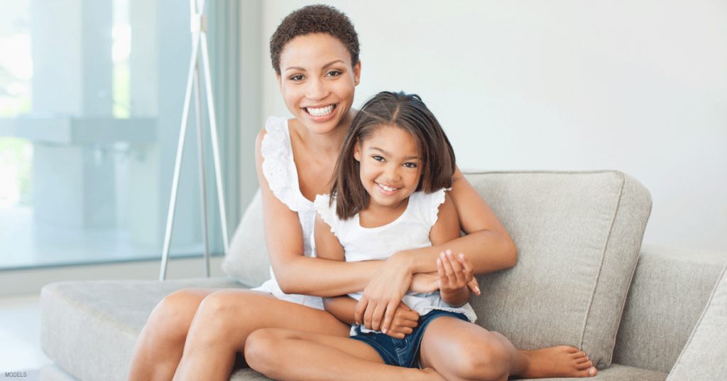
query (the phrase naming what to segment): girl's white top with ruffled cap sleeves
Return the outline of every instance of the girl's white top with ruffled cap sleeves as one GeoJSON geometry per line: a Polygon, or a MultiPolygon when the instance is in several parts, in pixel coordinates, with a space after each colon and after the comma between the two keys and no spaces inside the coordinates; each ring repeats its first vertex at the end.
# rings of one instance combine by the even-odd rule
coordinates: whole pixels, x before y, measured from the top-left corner
{"type": "MultiPolygon", "coordinates": [[[[430,194],[414,192],[398,219],[374,228],[361,227],[358,214],[348,220],[340,219],[336,214],[336,200],[330,203],[329,195],[317,195],[314,204],[343,246],[346,262],[385,260],[397,251],[432,246],[429,232],[437,221],[439,205],[444,203],[445,190],[430,194]]],[[[348,295],[356,300],[361,299],[360,292],[348,295]]],[[[471,322],[477,319],[469,303],[462,307],[451,307],[441,299],[439,291],[427,294],[409,291],[403,296],[402,302],[419,315],[425,315],[431,310],[447,310],[463,313],[471,322]]],[[[364,326],[361,329],[369,331],[364,326]]],[[[355,334],[354,329],[351,329],[351,334],[355,334]]]]}

